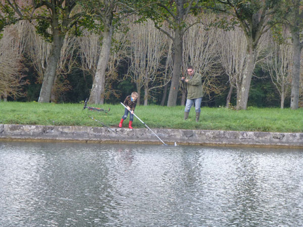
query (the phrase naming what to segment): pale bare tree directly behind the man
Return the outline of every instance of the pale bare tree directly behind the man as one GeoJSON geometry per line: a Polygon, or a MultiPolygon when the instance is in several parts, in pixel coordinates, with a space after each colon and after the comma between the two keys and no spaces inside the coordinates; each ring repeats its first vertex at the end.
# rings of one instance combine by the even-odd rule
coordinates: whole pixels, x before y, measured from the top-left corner
{"type": "MultiPolygon", "coordinates": [[[[194,24],[184,34],[183,41],[183,63],[184,66],[193,66],[196,72],[203,77],[204,93],[211,98],[211,93],[220,94],[222,88],[217,84],[217,77],[221,75],[218,67],[218,39],[221,30],[207,27],[214,15],[208,15],[203,23],[194,24]]],[[[196,19],[189,17],[188,23],[193,24],[196,19]]],[[[186,73],[183,67],[183,74],[186,73]]],[[[184,104],[184,103],[182,103],[184,104]]]]}

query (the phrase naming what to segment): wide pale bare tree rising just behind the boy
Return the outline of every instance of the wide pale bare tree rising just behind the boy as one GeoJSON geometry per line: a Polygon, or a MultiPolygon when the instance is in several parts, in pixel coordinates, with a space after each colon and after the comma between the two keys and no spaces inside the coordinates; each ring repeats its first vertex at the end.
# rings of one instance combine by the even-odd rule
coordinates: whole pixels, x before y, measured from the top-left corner
{"type": "Polygon", "coordinates": [[[147,105],[149,92],[163,87],[167,82],[162,77],[165,67],[161,60],[166,56],[166,36],[154,27],[154,22],[131,24],[128,32],[130,40],[130,66],[128,75],[136,83],[140,101],[140,90],[144,88],[144,105],[147,105]]]}

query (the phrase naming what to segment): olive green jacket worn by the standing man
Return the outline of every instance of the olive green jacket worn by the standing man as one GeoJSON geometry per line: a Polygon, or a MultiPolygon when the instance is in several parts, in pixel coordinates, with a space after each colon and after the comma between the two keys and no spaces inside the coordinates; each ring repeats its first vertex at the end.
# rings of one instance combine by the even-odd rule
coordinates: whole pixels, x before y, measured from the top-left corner
{"type": "Polygon", "coordinates": [[[186,83],[187,99],[203,97],[202,79],[200,74],[194,73],[192,78],[187,75],[185,77],[185,80],[188,80],[188,82],[186,83]]]}

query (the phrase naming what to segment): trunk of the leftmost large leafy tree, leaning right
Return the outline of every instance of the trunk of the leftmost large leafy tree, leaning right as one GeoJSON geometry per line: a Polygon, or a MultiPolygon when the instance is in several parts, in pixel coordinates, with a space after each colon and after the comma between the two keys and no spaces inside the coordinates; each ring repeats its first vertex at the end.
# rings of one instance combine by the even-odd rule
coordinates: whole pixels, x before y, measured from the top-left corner
{"type": "Polygon", "coordinates": [[[65,35],[60,34],[58,29],[54,29],[53,34],[54,34],[53,46],[45,69],[45,74],[44,74],[38,102],[49,102],[49,100],[51,99],[51,92],[56,77],[57,65],[60,59],[61,49],[65,37],[65,35]]]}

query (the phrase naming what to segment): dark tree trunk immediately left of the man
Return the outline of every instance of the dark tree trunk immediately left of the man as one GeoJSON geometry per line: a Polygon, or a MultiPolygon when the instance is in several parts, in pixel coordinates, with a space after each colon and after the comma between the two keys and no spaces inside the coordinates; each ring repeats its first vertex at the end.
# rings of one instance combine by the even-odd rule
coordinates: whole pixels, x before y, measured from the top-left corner
{"type": "Polygon", "coordinates": [[[174,38],[174,67],[171,87],[168,95],[167,106],[175,106],[177,104],[178,91],[179,91],[179,80],[181,73],[181,63],[182,63],[182,39],[179,30],[175,30],[174,38]]]}

